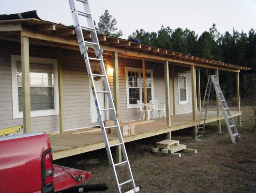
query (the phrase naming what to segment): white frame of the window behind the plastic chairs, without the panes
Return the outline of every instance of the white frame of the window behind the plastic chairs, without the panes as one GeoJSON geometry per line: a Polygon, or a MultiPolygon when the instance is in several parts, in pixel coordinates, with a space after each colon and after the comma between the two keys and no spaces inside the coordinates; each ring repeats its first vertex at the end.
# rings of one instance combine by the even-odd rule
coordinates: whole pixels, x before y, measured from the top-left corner
{"type": "MultiPolygon", "coordinates": [[[[125,67],[125,74],[126,74],[126,103],[127,108],[138,108],[138,104],[130,104],[129,102],[129,83],[128,83],[128,71],[136,71],[139,73],[139,89],[140,89],[140,101],[142,101],[142,76],[141,73],[143,73],[142,69],[140,68],[132,68],[132,67],[125,67]]],[[[146,69],[146,73],[151,74],[151,97],[152,100],[154,99],[154,78],[153,78],[153,70],[146,69]]]]}

